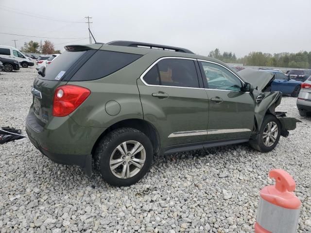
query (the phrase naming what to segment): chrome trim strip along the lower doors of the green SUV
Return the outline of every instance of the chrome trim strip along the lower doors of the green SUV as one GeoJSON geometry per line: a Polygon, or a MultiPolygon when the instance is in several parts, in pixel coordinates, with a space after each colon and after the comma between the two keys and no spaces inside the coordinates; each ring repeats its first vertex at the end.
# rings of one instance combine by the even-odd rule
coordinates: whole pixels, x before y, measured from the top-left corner
{"type": "Polygon", "coordinates": [[[168,137],[185,137],[185,136],[198,136],[198,135],[209,135],[219,133],[241,133],[250,132],[250,129],[223,129],[223,130],[195,130],[195,131],[181,131],[171,133],[168,137]]]}

